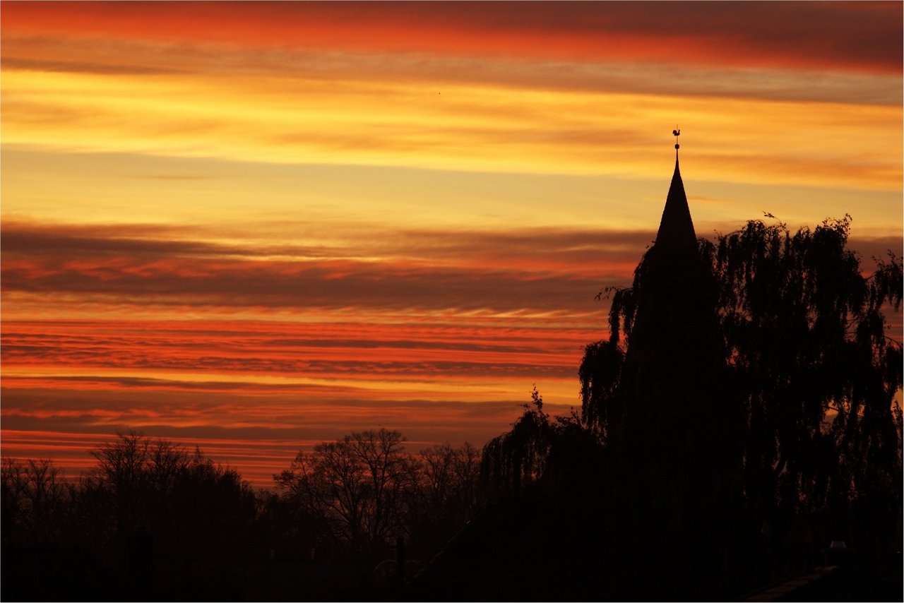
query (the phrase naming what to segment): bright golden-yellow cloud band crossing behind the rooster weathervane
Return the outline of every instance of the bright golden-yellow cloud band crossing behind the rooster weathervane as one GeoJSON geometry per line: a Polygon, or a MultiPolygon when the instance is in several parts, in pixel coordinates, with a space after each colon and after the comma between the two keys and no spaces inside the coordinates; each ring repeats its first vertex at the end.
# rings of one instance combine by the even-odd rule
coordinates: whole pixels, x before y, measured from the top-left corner
{"type": "Polygon", "coordinates": [[[899,190],[902,109],[479,84],[6,70],[3,142],[267,163],[899,190]],[[684,142],[683,140],[683,142],[684,142]]]}

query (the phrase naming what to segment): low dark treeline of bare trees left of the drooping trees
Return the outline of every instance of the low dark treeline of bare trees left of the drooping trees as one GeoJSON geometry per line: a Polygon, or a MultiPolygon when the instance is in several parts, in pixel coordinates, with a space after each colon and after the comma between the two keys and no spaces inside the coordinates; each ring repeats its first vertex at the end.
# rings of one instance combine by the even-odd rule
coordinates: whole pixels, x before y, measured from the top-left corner
{"type": "Polygon", "coordinates": [[[71,480],[50,459],[5,457],[3,598],[389,598],[395,564],[374,569],[398,537],[409,559],[428,556],[480,502],[476,448],[404,442],[379,429],[322,443],[275,492],[135,431],[71,480]]]}

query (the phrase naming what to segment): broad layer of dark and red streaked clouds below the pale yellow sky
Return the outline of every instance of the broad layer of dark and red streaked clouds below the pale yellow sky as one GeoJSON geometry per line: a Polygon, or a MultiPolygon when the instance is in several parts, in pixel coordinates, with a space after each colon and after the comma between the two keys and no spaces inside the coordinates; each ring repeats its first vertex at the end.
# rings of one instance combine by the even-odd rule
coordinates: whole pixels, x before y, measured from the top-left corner
{"type": "Polygon", "coordinates": [[[572,382],[605,336],[594,295],[629,280],[652,239],[338,231],[311,250],[199,235],[212,232],[4,221],[5,384],[474,400],[572,382]]]}

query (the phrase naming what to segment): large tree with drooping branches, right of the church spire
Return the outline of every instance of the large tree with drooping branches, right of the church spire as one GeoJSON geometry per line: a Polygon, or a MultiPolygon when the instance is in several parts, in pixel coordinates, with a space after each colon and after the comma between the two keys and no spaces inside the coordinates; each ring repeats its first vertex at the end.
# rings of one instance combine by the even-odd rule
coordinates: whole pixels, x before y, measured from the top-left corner
{"type": "Polygon", "coordinates": [[[864,277],[846,248],[850,221],[794,233],[750,221],[704,251],[720,283],[730,395],[747,419],[752,517],[815,516],[848,534],[854,516],[872,518],[884,523],[872,533],[899,539],[902,357],[882,311],[899,310],[901,265],[890,254],[864,277]]]}

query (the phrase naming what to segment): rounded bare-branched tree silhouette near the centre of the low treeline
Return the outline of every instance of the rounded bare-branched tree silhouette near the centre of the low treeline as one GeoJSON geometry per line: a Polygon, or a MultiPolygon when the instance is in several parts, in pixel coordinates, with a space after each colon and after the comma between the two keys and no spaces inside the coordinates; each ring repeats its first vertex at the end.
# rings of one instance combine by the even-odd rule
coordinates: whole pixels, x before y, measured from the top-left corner
{"type": "Polygon", "coordinates": [[[297,542],[326,554],[380,558],[402,536],[411,555],[431,555],[482,500],[480,453],[444,443],[412,457],[404,442],[397,430],[367,430],[299,452],[274,476],[282,495],[268,503],[268,517],[297,518],[306,526],[292,529],[297,542]]]}

